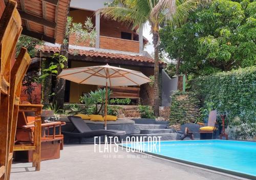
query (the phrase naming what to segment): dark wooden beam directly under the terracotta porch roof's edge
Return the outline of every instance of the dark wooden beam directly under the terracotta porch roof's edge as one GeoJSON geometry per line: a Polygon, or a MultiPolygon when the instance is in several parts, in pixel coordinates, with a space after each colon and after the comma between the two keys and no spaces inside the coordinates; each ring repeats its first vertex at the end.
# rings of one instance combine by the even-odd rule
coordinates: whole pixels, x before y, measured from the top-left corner
{"type": "MultiPolygon", "coordinates": [[[[54,53],[41,53],[42,58],[47,58],[53,56],[54,53]]],[[[40,57],[40,52],[36,53],[36,57],[40,57]]],[[[98,62],[102,64],[111,63],[118,65],[131,65],[131,66],[144,66],[145,68],[154,68],[154,63],[149,62],[140,62],[140,61],[131,61],[131,60],[120,60],[120,59],[110,59],[110,58],[95,58],[90,56],[74,56],[69,54],[69,60],[78,60],[78,61],[88,61],[88,62],[98,62]]],[[[159,64],[159,68],[166,68],[166,64],[159,64]]]]}

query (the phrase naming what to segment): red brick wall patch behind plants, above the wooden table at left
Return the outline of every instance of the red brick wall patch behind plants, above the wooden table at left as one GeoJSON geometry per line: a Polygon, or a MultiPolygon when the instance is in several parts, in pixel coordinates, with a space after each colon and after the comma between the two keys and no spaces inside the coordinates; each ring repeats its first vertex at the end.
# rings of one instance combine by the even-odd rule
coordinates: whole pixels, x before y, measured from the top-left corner
{"type": "MultiPolygon", "coordinates": [[[[41,103],[41,84],[33,83],[35,86],[35,90],[32,93],[32,104],[40,104],[41,103]]],[[[22,90],[20,92],[20,101],[29,101],[28,94],[25,94],[24,89],[26,87],[22,86],[22,90]]]]}

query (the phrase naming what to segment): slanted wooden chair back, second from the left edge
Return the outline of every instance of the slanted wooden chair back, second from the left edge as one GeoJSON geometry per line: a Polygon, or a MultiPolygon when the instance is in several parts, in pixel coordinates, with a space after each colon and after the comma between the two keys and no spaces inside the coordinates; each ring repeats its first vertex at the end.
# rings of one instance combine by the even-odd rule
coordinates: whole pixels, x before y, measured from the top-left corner
{"type": "MultiPolygon", "coordinates": [[[[22,80],[25,76],[25,73],[28,70],[30,62],[31,62],[31,58],[27,53],[27,49],[22,48],[11,70],[9,124],[8,124],[8,129],[10,132],[10,137],[9,137],[10,145],[8,146],[8,149],[10,154],[13,154],[20,89],[22,87],[22,80]]],[[[8,169],[8,176],[9,176],[11,171],[12,159],[8,163],[9,164],[7,169],[8,169]]]]}

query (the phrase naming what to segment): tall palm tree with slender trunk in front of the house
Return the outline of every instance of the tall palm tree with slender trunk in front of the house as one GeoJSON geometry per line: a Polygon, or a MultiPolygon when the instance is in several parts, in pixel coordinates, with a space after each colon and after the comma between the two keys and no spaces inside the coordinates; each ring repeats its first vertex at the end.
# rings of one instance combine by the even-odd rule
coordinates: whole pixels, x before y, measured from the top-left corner
{"type": "Polygon", "coordinates": [[[154,113],[159,116],[159,29],[164,22],[180,24],[190,11],[196,9],[199,0],[114,0],[106,3],[108,7],[99,11],[107,18],[111,18],[127,25],[132,29],[143,27],[145,22],[151,25],[153,44],[155,48],[154,66],[154,113]]]}

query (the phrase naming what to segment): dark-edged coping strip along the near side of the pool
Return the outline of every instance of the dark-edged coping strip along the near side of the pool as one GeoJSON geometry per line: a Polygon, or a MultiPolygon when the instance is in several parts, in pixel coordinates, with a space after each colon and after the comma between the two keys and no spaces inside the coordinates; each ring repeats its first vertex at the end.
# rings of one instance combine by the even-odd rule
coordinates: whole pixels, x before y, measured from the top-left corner
{"type": "Polygon", "coordinates": [[[185,160],[180,160],[180,159],[176,159],[176,158],[170,158],[168,156],[155,154],[155,153],[152,153],[152,152],[147,152],[147,151],[142,152],[142,151],[138,151],[136,148],[127,147],[127,146],[124,146],[124,145],[121,145],[121,144],[119,144],[119,147],[126,148],[126,149],[129,148],[129,149],[134,150],[136,153],[152,155],[154,158],[159,158],[159,159],[162,159],[162,160],[165,160],[165,161],[169,160],[169,161],[172,161],[172,162],[182,163],[183,165],[191,165],[195,168],[199,167],[199,168],[202,168],[204,170],[212,170],[212,171],[215,171],[217,173],[221,172],[221,173],[225,173],[225,175],[227,175],[227,176],[232,175],[230,177],[236,176],[236,177],[242,177],[242,178],[246,178],[246,179],[256,179],[256,176],[253,176],[253,175],[250,175],[250,174],[230,171],[230,170],[221,169],[221,168],[212,167],[212,166],[207,166],[207,165],[203,165],[203,164],[199,164],[199,163],[193,163],[193,162],[189,162],[189,161],[185,161],[185,160]]]}

